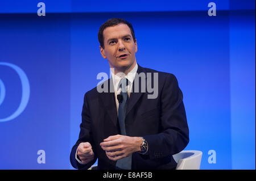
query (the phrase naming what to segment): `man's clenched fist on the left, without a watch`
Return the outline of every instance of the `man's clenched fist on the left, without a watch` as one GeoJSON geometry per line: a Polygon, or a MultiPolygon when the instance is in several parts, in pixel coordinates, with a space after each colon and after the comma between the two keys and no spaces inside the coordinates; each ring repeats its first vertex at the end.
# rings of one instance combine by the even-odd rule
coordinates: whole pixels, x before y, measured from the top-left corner
{"type": "Polygon", "coordinates": [[[82,163],[89,163],[94,158],[92,145],[89,142],[81,142],[77,147],[77,156],[81,159],[82,163]]]}

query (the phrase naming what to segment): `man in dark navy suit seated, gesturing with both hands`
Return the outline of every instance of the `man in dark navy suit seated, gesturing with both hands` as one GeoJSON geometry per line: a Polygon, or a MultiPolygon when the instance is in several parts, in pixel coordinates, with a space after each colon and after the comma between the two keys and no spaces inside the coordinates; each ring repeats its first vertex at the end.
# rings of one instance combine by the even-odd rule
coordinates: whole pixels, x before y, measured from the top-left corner
{"type": "Polygon", "coordinates": [[[102,24],[98,40],[112,77],[84,96],[72,166],[88,169],[98,158],[98,169],[175,169],[172,155],[189,141],[177,79],[137,64],[137,40],[126,20],[102,24]]]}

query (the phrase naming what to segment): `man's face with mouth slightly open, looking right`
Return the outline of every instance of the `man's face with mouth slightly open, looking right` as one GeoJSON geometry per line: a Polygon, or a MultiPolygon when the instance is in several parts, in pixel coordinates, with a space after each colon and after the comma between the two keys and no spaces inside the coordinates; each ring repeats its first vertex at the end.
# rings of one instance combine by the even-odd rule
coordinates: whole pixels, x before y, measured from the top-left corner
{"type": "Polygon", "coordinates": [[[137,41],[134,43],[130,28],[126,24],[108,27],[103,31],[104,49],[100,46],[101,55],[107,58],[110,68],[115,72],[129,72],[136,65],[135,53],[137,41]]]}

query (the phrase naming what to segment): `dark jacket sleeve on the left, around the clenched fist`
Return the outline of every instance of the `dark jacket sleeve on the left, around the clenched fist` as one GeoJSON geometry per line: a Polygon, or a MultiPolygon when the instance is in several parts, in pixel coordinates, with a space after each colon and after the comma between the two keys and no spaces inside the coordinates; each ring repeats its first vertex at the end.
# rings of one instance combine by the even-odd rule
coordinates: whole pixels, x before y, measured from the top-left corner
{"type": "Polygon", "coordinates": [[[80,164],[76,160],[76,150],[81,142],[89,142],[92,145],[92,149],[94,148],[94,145],[92,144],[92,132],[91,132],[90,124],[91,124],[90,110],[88,106],[88,99],[87,99],[87,93],[86,93],[84,95],[84,105],[82,106],[82,123],[80,124],[79,139],[77,140],[76,144],[73,146],[70,154],[71,165],[75,169],[82,169],[82,170],[89,169],[89,167],[92,166],[93,163],[95,163],[97,160],[97,155],[94,150],[93,150],[93,153],[94,153],[93,161],[87,164],[80,164]]]}

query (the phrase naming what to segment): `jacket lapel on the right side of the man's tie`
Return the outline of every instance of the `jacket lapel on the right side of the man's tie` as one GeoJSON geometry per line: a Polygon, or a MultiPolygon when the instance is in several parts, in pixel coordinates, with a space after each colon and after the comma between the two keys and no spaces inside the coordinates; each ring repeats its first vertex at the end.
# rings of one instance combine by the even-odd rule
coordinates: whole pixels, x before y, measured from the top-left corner
{"type": "MultiPolygon", "coordinates": [[[[146,71],[141,66],[139,66],[139,64],[138,64],[137,73],[138,74],[144,73],[145,79],[143,78],[143,82],[146,83],[146,75],[147,75],[146,71]]],[[[138,79],[138,74],[135,75],[134,80],[138,79]]],[[[139,98],[141,98],[141,96],[144,94],[144,92],[141,92],[141,81],[142,81],[141,79],[139,80],[139,92],[134,92],[135,91],[135,89],[134,89],[134,80],[133,80],[133,92],[131,92],[131,94],[130,94],[126,115],[131,111],[131,109],[134,107],[134,105],[138,102],[139,98]]]]}

